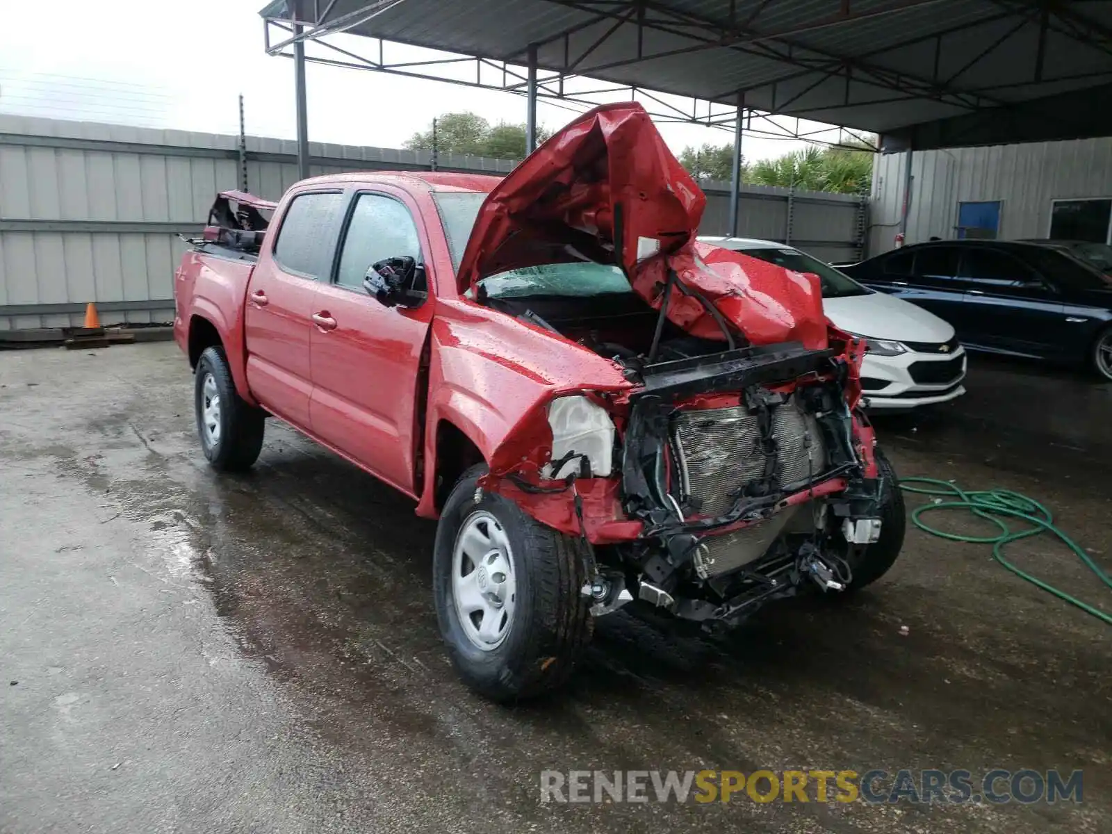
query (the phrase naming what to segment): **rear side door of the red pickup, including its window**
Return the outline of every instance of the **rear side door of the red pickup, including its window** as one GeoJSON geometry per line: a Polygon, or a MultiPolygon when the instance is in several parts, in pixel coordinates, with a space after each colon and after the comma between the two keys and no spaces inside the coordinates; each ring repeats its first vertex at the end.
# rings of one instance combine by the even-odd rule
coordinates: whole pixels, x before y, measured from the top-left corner
{"type": "Polygon", "coordinates": [[[301,427],[309,426],[317,279],[327,279],[331,267],[342,198],[339,191],[294,196],[247,288],[247,384],[259,403],[301,427]]]}

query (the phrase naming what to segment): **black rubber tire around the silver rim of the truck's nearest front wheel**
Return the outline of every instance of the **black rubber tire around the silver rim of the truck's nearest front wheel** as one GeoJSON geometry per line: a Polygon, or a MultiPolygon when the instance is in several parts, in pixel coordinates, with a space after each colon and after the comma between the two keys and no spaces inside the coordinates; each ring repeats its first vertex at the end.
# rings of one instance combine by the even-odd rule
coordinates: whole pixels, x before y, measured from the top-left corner
{"type": "Polygon", "coordinates": [[[464,473],[445,502],[436,530],[433,596],[456,672],[475,692],[497,702],[544,695],[564,684],[590,643],[594,620],[584,584],[583,543],[545,527],[514,502],[475,492],[485,466],[464,473]],[[516,585],[513,620],[503,642],[480,648],[464,631],[453,593],[453,556],[465,522],[488,513],[506,534],[516,585]]]}

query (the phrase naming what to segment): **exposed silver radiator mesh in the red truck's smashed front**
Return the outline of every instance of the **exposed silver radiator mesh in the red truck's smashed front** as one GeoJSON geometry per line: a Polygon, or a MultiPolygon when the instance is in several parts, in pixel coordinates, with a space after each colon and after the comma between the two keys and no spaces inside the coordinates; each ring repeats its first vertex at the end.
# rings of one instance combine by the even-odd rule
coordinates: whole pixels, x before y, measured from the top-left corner
{"type": "MultiPolygon", "coordinates": [[[[772,425],[781,484],[798,484],[826,468],[818,424],[796,408],[794,397],[773,411],[772,425]]],[[[698,500],[701,515],[723,515],[743,486],[764,475],[757,418],[744,406],[681,411],[675,431],[684,489],[698,500]]]]}

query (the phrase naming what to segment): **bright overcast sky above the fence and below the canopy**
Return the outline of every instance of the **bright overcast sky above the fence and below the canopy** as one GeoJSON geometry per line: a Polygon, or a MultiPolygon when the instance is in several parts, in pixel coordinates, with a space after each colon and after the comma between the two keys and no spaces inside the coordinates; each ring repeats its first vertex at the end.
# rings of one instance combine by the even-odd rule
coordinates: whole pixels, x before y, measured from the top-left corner
{"type": "MultiPolygon", "coordinates": [[[[294,66],[262,49],[264,3],[6,3],[0,112],[234,133],[242,92],[248,133],[292,138],[294,66]]],[[[426,57],[407,47],[387,52],[388,60],[426,57]]],[[[344,145],[400,147],[448,111],[471,110],[492,123],[525,120],[525,100],[512,93],[312,63],[308,101],[309,138],[344,145]]],[[[570,118],[540,101],[538,119],[546,127],[570,118]]],[[[732,141],[726,131],[695,125],[663,125],[661,131],[677,153],[685,145],[732,141]]],[[[746,136],[744,155],[763,159],[797,147],[794,140],[746,136]]]]}

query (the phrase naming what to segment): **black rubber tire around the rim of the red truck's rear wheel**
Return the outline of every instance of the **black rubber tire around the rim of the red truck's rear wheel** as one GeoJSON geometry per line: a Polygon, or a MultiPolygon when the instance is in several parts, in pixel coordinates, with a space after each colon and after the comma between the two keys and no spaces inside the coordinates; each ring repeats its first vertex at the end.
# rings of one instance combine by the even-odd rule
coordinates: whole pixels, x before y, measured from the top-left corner
{"type": "Polygon", "coordinates": [[[236,391],[231,368],[219,346],[206,348],[197,360],[193,379],[193,411],[201,450],[214,469],[242,471],[249,469],[262,449],[266,413],[244,400],[236,391]],[[219,396],[219,433],[212,436],[206,428],[205,408],[208,399],[206,381],[211,378],[219,396]]]}

